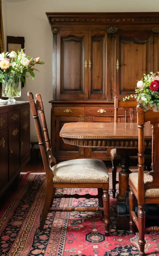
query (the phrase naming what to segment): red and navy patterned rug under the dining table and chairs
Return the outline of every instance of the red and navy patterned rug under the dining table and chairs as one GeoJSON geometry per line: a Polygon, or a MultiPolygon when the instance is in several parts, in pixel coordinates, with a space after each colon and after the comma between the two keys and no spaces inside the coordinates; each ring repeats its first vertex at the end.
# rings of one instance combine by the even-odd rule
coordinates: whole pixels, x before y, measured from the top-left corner
{"type": "MultiPolygon", "coordinates": [[[[21,175],[22,176],[22,175],[21,175]]],[[[111,177],[110,177],[111,180],[111,177]]],[[[111,184],[110,184],[111,187],[111,184]]],[[[116,199],[111,200],[110,237],[104,236],[103,215],[94,212],[50,212],[40,232],[45,174],[27,173],[0,211],[1,256],[138,255],[138,233],[116,230],[116,199]]],[[[96,189],[58,189],[56,193],[90,193],[96,189]]],[[[110,190],[111,195],[111,190],[110,190]]],[[[54,206],[97,206],[97,199],[55,199],[54,206]]],[[[146,255],[159,255],[159,234],[146,233],[146,255]]]]}

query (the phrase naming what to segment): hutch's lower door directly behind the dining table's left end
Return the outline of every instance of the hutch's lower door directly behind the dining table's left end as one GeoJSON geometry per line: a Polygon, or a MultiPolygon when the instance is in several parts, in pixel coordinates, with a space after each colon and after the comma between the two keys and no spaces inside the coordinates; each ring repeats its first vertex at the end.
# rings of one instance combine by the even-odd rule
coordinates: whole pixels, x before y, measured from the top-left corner
{"type": "Polygon", "coordinates": [[[84,122],[84,117],[75,116],[60,116],[56,117],[56,141],[55,141],[55,156],[61,159],[83,158],[84,148],[65,144],[63,139],[59,137],[60,130],[65,123],[84,122]]]}

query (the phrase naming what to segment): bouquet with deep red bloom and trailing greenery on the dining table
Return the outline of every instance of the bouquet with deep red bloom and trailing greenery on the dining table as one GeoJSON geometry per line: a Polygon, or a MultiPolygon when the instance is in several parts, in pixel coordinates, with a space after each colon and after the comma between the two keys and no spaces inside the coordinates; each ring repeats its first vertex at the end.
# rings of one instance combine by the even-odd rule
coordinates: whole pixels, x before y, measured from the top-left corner
{"type": "Polygon", "coordinates": [[[134,97],[143,104],[145,110],[159,111],[159,72],[144,74],[144,78],[137,82],[135,92],[136,94],[123,98],[123,101],[134,97]]]}

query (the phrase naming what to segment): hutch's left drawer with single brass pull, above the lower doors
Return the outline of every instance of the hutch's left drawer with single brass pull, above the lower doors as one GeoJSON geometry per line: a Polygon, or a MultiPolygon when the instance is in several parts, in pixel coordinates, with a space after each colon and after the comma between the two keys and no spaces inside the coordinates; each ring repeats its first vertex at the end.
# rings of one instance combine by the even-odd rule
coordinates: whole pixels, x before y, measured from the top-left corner
{"type": "Polygon", "coordinates": [[[84,107],[54,107],[57,116],[84,116],[84,107]]]}

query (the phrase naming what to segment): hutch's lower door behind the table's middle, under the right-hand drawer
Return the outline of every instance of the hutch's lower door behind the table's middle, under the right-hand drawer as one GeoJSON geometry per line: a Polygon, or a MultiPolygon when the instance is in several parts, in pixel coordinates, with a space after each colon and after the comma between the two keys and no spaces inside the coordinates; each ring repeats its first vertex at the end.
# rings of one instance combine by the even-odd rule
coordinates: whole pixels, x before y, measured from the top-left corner
{"type": "MultiPolygon", "coordinates": [[[[109,123],[113,122],[111,117],[86,117],[85,122],[96,122],[96,123],[109,123]]],[[[110,148],[85,148],[85,157],[86,158],[97,158],[103,161],[111,160],[110,157],[110,148]]]]}

